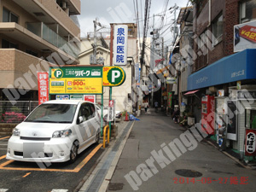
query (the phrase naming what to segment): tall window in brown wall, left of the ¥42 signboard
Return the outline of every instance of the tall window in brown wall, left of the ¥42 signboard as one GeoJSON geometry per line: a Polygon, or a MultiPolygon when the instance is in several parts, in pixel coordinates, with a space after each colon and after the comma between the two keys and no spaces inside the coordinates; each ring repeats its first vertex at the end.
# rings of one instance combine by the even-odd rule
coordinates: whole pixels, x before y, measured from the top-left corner
{"type": "Polygon", "coordinates": [[[223,15],[219,15],[212,22],[212,43],[213,46],[222,41],[223,34],[223,15]]]}

